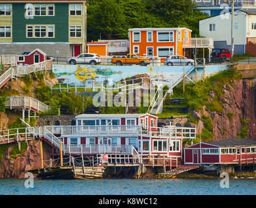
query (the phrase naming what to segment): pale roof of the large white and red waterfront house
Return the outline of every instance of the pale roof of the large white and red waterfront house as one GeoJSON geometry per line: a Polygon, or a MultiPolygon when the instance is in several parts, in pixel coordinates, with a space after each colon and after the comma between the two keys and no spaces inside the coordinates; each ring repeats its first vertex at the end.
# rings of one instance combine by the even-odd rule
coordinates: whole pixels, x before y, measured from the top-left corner
{"type": "Polygon", "coordinates": [[[157,116],[151,114],[81,114],[76,116],[76,118],[139,118],[145,115],[158,118],[157,116]]]}

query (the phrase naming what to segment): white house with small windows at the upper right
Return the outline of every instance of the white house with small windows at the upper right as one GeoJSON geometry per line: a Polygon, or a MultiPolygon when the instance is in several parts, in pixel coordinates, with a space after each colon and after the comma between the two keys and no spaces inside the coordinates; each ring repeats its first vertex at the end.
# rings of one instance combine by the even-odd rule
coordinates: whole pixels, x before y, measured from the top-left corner
{"type": "MultiPolygon", "coordinates": [[[[199,21],[199,33],[207,38],[214,38],[214,48],[227,47],[231,50],[232,12],[212,16],[199,21]]],[[[256,11],[235,10],[234,44],[235,54],[246,53],[249,38],[256,37],[256,11]]]]}

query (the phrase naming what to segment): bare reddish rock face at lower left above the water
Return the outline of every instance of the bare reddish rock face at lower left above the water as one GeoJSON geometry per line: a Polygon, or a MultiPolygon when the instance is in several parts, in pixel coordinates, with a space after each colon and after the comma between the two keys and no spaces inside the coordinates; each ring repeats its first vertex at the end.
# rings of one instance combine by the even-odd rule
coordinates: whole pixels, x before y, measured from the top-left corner
{"type": "MultiPolygon", "coordinates": [[[[0,161],[0,178],[16,177],[23,178],[28,170],[41,168],[40,144],[36,140],[29,141],[29,146],[23,155],[18,156],[15,160],[10,158],[10,151],[13,144],[8,146],[7,151],[0,161]]],[[[44,159],[50,159],[49,149],[43,150],[44,159]]]]}

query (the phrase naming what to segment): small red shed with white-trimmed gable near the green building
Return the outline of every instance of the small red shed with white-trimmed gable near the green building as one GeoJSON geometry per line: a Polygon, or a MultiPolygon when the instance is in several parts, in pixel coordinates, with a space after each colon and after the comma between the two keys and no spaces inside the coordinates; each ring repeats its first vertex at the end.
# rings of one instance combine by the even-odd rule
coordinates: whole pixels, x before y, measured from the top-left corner
{"type": "Polygon", "coordinates": [[[24,52],[22,55],[18,56],[18,65],[32,65],[40,63],[46,60],[46,53],[40,49],[35,49],[34,51],[24,52]]]}

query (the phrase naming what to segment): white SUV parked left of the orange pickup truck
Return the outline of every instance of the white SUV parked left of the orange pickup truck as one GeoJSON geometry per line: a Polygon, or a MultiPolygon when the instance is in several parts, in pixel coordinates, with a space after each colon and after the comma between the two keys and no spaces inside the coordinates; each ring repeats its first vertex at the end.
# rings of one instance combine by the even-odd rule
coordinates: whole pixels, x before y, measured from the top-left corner
{"type": "Polygon", "coordinates": [[[100,64],[100,57],[96,53],[82,53],[77,57],[71,57],[66,59],[66,63],[68,64],[91,64],[96,65],[100,64]]]}

